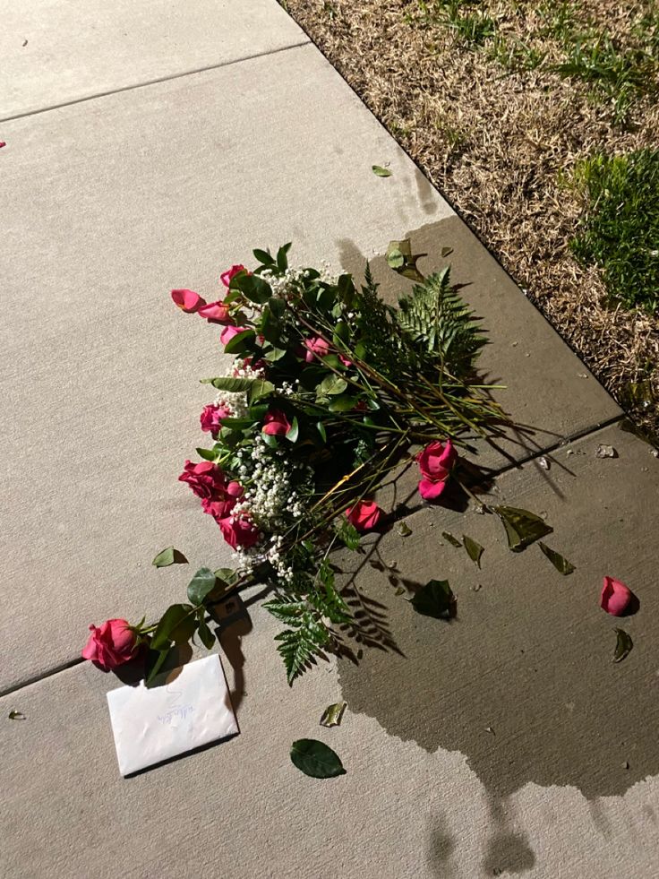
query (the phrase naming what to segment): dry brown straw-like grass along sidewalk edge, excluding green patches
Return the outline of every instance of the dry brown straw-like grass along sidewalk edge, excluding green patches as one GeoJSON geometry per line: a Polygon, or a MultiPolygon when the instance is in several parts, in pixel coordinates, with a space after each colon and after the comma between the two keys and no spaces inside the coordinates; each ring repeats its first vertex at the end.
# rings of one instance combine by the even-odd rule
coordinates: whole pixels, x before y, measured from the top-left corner
{"type": "MultiPolygon", "coordinates": [[[[554,36],[533,38],[531,47],[547,53],[542,65],[510,72],[487,46],[467,47],[429,22],[416,0],[285,5],[609,391],[624,403],[629,383],[649,378],[659,400],[659,319],[607,306],[599,271],[568,249],[582,209],[569,185],[575,162],[656,146],[655,101],[635,99],[620,125],[586,83],[552,72],[554,36]]],[[[588,0],[579,14],[629,39],[642,5],[588,0]]],[[[538,6],[478,8],[528,44],[538,6]]],[[[635,417],[659,431],[655,406],[635,417]]]]}

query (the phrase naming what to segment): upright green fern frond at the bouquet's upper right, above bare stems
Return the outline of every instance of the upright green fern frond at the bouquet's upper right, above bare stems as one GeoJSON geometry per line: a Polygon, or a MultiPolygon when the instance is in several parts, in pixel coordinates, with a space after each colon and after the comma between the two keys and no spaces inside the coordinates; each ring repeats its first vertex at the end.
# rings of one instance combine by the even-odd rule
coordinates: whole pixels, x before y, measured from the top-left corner
{"type": "Polygon", "coordinates": [[[450,287],[449,266],[415,285],[409,296],[401,297],[396,318],[415,345],[432,357],[440,357],[455,375],[469,373],[487,344],[474,312],[450,287]]]}

